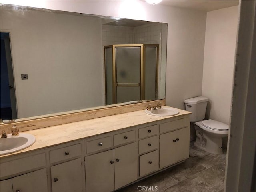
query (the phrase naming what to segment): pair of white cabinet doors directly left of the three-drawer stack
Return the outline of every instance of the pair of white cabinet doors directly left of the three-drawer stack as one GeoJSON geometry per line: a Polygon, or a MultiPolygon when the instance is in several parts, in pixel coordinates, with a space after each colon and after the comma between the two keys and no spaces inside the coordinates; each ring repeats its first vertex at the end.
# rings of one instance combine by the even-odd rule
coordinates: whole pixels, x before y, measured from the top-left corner
{"type": "Polygon", "coordinates": [[[137,179],[136,142],[85,157],[86,192],[109,192],[137,179]]]}

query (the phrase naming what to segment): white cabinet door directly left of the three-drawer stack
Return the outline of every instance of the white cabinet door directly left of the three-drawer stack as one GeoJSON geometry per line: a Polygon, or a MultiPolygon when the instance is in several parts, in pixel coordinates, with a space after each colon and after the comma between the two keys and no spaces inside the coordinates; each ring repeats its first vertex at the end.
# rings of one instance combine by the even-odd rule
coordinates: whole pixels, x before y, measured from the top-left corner
{"type": "Polygon", "coordinates": [[[114,149],[115,189],[133,182],[138,176],[138,148],[131,143],[114,149]]]}

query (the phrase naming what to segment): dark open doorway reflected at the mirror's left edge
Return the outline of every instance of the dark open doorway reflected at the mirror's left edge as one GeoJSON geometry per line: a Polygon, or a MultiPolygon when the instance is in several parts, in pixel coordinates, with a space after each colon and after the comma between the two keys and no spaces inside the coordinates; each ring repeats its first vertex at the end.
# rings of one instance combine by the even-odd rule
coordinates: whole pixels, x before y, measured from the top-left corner
{"type": "Polygon", "coordinates": [[[1,32],[0,34],[0,118],[2,120],[17,119],[10,33],[1,32]]]}

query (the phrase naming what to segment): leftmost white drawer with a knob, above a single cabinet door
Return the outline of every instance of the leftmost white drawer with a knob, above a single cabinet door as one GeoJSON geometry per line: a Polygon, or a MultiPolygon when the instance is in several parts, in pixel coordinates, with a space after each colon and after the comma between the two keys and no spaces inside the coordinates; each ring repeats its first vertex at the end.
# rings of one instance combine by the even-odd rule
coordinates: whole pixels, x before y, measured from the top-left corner
{"type": "Polygon", "coordinates": [[[81,155],[81,144],[50,151],[50,163],[70,159],[81,155]]]}

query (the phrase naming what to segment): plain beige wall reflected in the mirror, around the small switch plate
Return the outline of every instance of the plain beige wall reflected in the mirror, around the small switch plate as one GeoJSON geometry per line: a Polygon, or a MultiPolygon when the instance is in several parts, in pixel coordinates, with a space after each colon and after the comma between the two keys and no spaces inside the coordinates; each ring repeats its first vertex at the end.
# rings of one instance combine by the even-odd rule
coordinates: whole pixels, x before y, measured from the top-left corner
{"type": "Polygon", "coordinates": [[[100,19],[1,9],[1,31],[10,32],[18,118],[103,105],[100,19]]]}

